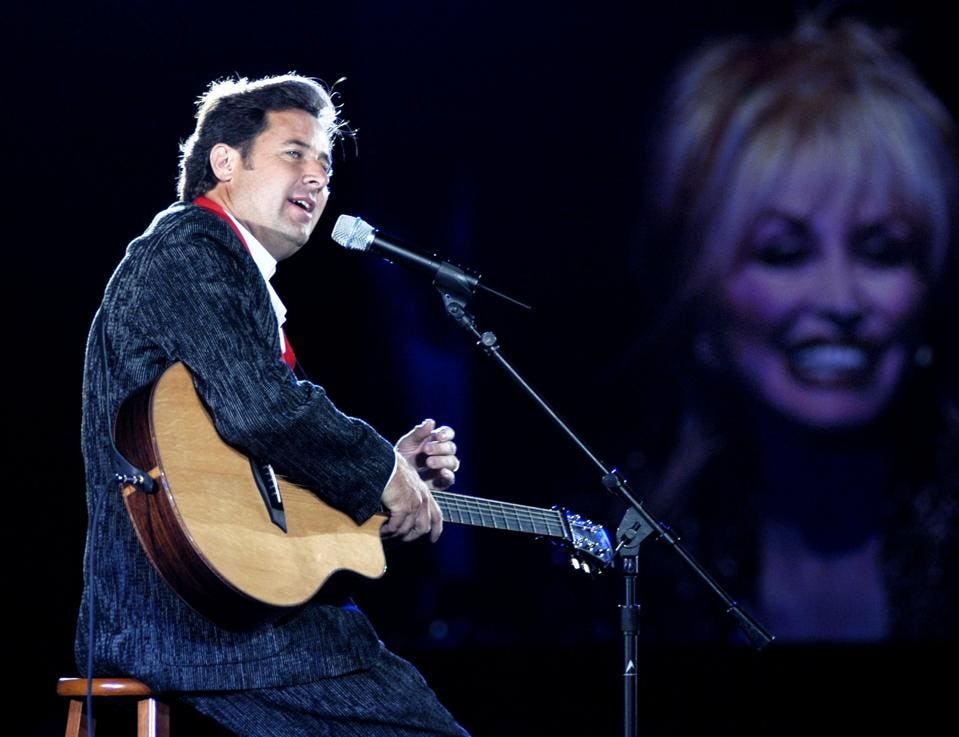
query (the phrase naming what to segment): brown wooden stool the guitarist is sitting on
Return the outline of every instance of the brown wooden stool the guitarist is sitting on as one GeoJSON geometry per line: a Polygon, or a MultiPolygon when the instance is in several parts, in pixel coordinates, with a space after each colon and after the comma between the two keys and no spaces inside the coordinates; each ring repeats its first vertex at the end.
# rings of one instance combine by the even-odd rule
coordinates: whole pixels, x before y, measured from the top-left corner
{"type": "MultiPolygon", "coordinates": [[[[160,701],[150,687],[134,678],[94,678],[94,696],[136,697],[137,737],[170,737],[170,708],[160,701]]],[[[93,737],[87,734],[84,705],[87,698],[86,678],[61,678],[57,693],[70,697],[66,737],[93,737]]],[[[95,725],[94,725],[95,728],[95,725]]]]}

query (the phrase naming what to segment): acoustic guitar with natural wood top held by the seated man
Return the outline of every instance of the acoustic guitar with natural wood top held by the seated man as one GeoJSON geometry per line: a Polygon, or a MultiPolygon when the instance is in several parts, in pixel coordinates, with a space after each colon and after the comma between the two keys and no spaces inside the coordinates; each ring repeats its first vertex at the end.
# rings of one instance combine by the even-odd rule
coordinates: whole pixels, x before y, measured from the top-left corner
{"type": "MultiPolygon", "coordinates": [[[[221,626],[294,610],[337,571],[385,573],[385,514],[358,525],[228,445],[182,363],[123,403],[115,435],[119,451],[154,480],[152,492],[121,487],[144,551],[181,599],[221,626]]],[[[611,565],[603,527],[564,509],[433,496],[445,521],[564,544],[574,567],[587,572],[611,565]]]]}

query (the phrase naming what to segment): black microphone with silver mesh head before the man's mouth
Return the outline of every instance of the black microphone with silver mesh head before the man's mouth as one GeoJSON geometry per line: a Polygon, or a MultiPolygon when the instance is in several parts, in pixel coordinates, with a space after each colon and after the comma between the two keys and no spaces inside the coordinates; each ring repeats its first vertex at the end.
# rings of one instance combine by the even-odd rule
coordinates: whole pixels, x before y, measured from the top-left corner
{"type": "Polygon", "coordinates": [[[433,283],[440,291],[452,291],[457,296],[468,299],[476,289],[482,289],[527,310],[531,309],[529,305],[481,284],[479,274],[470,273],[446,261],[440,261],[435,254],[427,256],[421,251],[402,245],[381,235],[372,225],[352,215],[340,215],[336,219],[332,238],[344,248],[368,251],[391,263],[415,271],[425,271],[433,277],[433,283]]]}

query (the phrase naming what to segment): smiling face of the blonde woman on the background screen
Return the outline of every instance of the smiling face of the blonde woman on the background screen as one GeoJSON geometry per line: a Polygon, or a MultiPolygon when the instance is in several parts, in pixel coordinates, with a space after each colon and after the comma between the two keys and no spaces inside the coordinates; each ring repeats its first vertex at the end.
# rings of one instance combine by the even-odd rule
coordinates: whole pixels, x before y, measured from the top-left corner
{"type": "Polygon", "coordinates": [[[832,184],[797,170],[763,198],[713,285],[711,342],[763,404],[848,428],[890,404],[914,354],[928,243],[891,187],[832,184]]]}

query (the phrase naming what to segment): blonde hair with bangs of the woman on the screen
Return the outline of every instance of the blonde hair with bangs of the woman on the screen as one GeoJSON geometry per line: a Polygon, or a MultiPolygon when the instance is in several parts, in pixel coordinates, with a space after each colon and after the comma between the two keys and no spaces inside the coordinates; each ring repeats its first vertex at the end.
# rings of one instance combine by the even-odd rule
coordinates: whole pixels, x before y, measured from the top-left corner
{"type": "Polygon", "coordinates": [[[680,249],[681,303],[729,268],[764,198],[796,171],[823,194],[892,196],[927,240],[923,273],[942,269],[955,227],[954,121],[866,25],[810,20],[786,38],[706,47],[680,70],[662,132],[655,206],[660,245],[680,249]]]}

